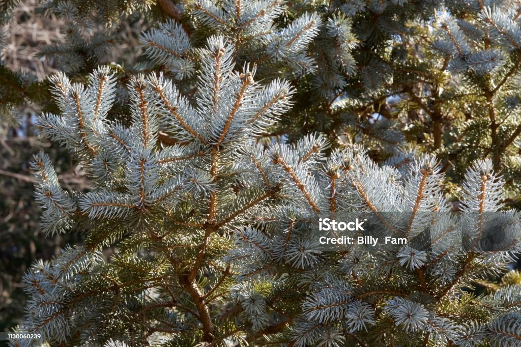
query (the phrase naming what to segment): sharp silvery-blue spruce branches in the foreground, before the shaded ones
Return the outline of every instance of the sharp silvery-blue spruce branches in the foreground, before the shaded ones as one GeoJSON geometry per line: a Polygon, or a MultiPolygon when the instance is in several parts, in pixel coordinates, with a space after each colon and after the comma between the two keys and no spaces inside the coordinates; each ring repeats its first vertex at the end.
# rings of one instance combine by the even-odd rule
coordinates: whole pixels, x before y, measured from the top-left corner
{"type": "MultiPolygon", "coordinates": [[[[110,69],[87,85],[53,77],[60,113],[39,126],[85,165],[95,188],[62,189],[49,157],[35,155],[42,228],[87,234],[84,246],[26,275],[19,330],[42,341],[17,343],[515,345],[519,274],[508,264],[519,230],[509,252],[463,252],[454,238],[433,252],[321,252],[310,232],[318,216],[401,211],[408,231],[421,229],[419,212],[450,209],[443,174],[426,155],[384,166],[357,146],[326,155],[317,134],[259,144],[294,90],[259,83],[234,52],[222,36],[207,40],[190,99],[162,74],[132,78],[129,125],[107,118],[116,101],[110,69]],[[109,261],[106,246],[116,250],[109,261]],[[463,290],[504,273],[487,293],[463,290]]],[[[497,212],[503,184],[490,161],[476,162],[463,185],[467,212],[497,212]]]]}

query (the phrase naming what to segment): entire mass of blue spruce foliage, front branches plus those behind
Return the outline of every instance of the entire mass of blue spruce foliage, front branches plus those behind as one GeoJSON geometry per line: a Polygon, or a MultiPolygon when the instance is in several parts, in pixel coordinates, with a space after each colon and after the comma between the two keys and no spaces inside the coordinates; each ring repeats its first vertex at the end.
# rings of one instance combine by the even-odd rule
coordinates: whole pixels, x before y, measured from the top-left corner
{"type": "MultiPolygon", "coordinates": [[[[74,38],[80,6],[110,21],[120,2],[84,3],[45,6],[74,38]]],[[[514,2],[157,3],[173,20],[142,33],[144,64],[85,78],[76,58],[96,65],[106,40],[57,53],[70,76],[48,79],[57,111],[39,131],[93,188],[61,187],[42,152],[35,199],[44,232],[85,242],[33,264],[18,331],[42,338],[11,345],[519,345],[514,2]],[[325,251],[316,221],[347,213],[432,245],[325,251]],[[481,242],[491,225],[507,247],[481,242]]]]}

